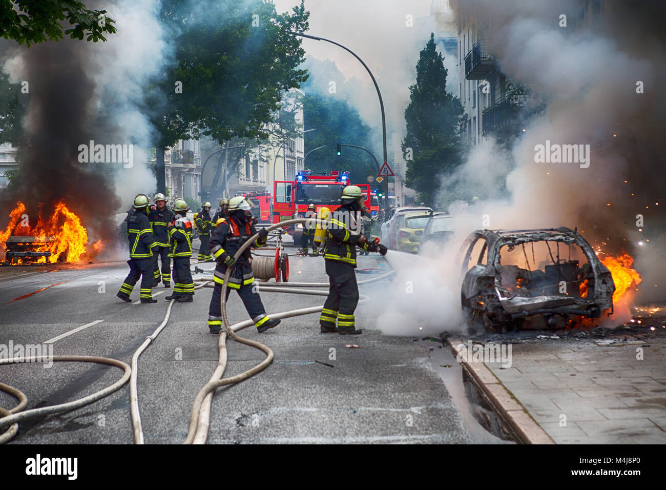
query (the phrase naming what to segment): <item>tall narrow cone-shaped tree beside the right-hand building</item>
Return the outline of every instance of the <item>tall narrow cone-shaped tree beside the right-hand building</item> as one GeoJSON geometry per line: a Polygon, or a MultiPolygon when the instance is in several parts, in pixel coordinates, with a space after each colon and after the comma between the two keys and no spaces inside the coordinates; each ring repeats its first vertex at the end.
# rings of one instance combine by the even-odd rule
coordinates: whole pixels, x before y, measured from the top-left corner
{"type": "Polygon", "coordinates": [[[436,50],[434,34],[422,49],[416,64],[416,83],[410,87],[410,104],[405,109],[407,133],[402,151],[412,149],[405,183],[427,196],[432,204],[438,189],[438,175],[449,173],[462,162],[460,126],[464,121],[458,97],[446,92],[448,70],[436,50]]]}

